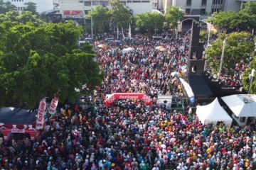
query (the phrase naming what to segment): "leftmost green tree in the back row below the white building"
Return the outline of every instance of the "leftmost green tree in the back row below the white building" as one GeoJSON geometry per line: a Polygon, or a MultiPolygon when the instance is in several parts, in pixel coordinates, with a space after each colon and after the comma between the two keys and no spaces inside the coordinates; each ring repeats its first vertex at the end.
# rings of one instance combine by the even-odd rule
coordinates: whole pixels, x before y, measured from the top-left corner
{"type": "Polygon", "coordinates": [[[105,33],[110,30],[110,15],[108,9],[103,6],[96,6],[89,11],[86,18],[92,18],[93,29],[98,33],[105,33]]]}

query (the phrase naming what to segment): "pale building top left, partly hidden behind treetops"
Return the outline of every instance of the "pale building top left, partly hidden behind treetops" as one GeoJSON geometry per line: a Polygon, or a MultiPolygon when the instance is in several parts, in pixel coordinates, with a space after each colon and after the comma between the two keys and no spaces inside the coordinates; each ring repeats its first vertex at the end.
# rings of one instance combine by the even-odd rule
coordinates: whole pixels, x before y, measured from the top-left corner
{"type": "Polygon", "coordinates": [[[33,2],[36,4],[36,11],[42,13],[53,9],[53,0],[4,0],[10,1],[17,8],[17,11],[21,12],[26,8],[27,2],[33,2]]]}

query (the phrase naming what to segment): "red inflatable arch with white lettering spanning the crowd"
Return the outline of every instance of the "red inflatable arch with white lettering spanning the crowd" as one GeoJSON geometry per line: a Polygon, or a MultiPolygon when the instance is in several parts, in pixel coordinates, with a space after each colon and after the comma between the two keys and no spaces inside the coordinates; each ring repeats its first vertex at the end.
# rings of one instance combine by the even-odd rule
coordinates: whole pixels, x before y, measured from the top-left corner
{"type": "Polygon", "coordinates": [[[143,100],[146,105],[151,104],[151,98],[143,93],[114,93],[105,100],[105,105],[110,105],[114,100],[143,100]]]}

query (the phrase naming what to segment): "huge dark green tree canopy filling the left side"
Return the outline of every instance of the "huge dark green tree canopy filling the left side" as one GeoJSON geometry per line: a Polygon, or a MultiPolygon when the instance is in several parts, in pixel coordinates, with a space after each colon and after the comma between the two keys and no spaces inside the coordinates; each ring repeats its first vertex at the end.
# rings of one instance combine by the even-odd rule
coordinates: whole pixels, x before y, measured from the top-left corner
{"type": "Polygon", "coordinates": [[[100,85],[102,76],[92,47],[78,49],[80,26],[72,22],[35,24],[33,17],[23,18],[0,23],[1,106],[34,108],[41,98],[51,98],[58,90],[60,101],[72,100],[100,85]]]}

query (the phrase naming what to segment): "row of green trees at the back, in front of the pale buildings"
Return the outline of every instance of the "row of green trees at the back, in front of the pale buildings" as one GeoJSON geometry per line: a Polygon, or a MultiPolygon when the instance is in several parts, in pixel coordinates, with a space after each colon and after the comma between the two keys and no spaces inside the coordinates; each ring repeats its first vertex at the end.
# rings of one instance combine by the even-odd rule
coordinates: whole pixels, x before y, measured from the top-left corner
{"type": "Polygon", "coordinates": [[[87,18],[92,18],[94,30],[98,33],[108,32],[109,26],[118,26],[128,28],[131,21],[141,31],[148,31],[151,35],[152,30],[161,30],[164,28],[164,22],[167,27],[177,28],[178,21],[183,18],[185,13],[178,7],[171,7],[167,10],[166,15],[162,13],[139,13],[132,16],[127,6],[124,6],[118,0],[110,1],[110,10],[105,6],[96,6],[89,11],[87,18]],[[110,24],[111,23],[111,24],[110,24]]]}

